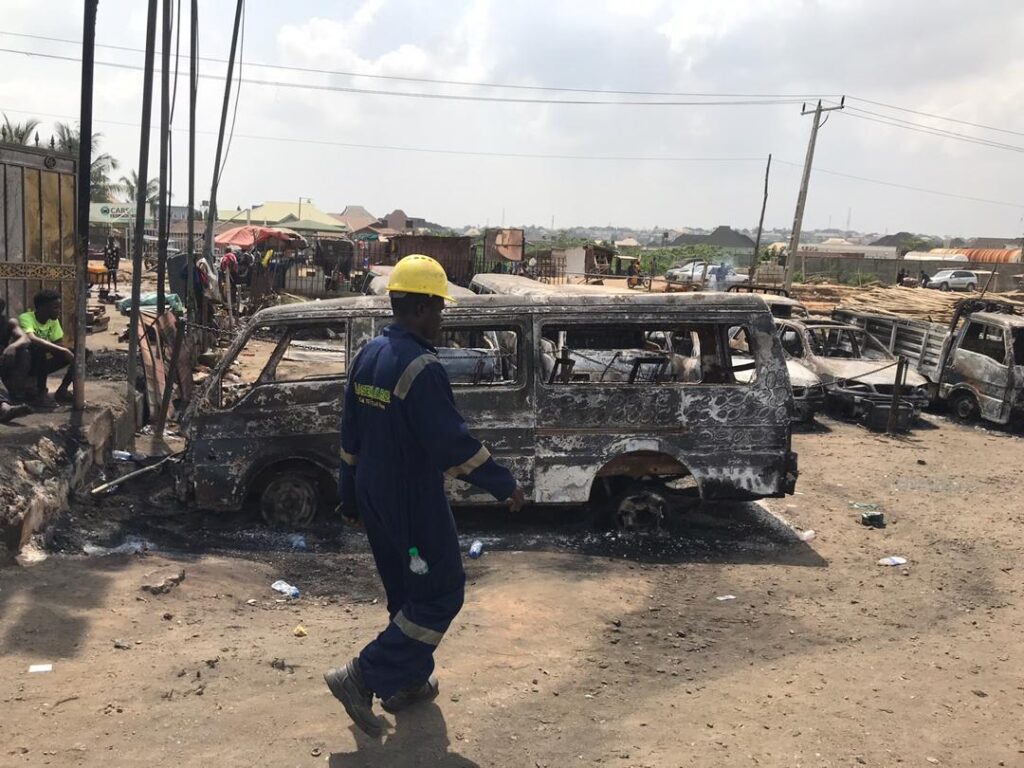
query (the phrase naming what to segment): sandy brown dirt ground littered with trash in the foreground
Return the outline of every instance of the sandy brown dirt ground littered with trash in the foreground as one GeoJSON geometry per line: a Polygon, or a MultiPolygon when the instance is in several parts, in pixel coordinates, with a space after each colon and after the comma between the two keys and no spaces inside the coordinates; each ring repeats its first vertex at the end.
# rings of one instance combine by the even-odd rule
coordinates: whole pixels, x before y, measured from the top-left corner
{"type": "Polygon", "coordinates": [[[359,535],[289,552],[251,523],[194,530],[153,488],[108,497],[54,547],[132,534],[155,550],[0,569],[0,764],[1024,765],[1024,443],[929,419],[901,439],[829,420],[795,436],[799,494],[767,506],[807,543],[753,504],[642,548],[463,517],[488,551],[467,560],[441,695],[387,717],[381,742],[321,679],[386,620],[359,535]],[[181,568],[169,593],[140,591],[181,568]]]}

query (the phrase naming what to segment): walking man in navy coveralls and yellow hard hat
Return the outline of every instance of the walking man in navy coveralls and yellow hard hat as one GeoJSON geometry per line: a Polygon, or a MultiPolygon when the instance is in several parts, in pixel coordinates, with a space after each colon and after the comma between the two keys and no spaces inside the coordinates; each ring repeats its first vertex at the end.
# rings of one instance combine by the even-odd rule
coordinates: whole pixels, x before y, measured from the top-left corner
{"type": "Polygon", "coordinates": [[[344,513],[366,525],[391,622],[357,658],[324,675],[371,736],[381,732],[374,694],[391,713],[437,695],[434,649],[462,608],[466,574],[443,475],[507,500],[513,512],[524,503],[512,474],[469,433],[431,346],[444,301],[454,301],[443,267],[407,256],[388,292],[394,325],[349,371],[339,489],[344,513]]]}

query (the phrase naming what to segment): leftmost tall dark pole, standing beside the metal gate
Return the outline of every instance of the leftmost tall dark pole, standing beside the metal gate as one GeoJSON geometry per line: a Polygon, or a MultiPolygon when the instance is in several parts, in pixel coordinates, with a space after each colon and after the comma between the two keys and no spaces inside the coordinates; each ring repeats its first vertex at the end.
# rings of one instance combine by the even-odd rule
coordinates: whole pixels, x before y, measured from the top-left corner
{"type": "Polygon", "coordinates": [[[92,83],[93,54],[96,50],[96,9],[99,0],[85,1],[82,26],[82,103],[78,132],[78,208],[75,211],[78,231],[78,296],[75,301],[75,410],[85,408],[85,302],[89,294],[89,200],[92,197],[92,83]]]}

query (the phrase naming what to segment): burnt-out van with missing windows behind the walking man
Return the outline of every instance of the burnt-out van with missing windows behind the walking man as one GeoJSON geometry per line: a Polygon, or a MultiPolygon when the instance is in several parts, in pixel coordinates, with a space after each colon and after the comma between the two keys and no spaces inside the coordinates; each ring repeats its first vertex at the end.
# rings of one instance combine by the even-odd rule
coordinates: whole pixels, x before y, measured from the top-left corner
{"type": "MultiPolygon", "coordinates": [[[[333,510],[348,361],[390,322],[375,296],[257,312],[185,414],[179,496],[208,510],[254,503],[295,526],[333,510]]],[[[470,428],[527,500],[671,529],[679,497],[793,493],[773,331],[745,296],[473,296],[445,310],[437,354],[470,428]],[[732,358],[736,327],[749,329],[749,359],[732,358]]],[[[453,503],[494,503],[446,482],[453,503]]]]}

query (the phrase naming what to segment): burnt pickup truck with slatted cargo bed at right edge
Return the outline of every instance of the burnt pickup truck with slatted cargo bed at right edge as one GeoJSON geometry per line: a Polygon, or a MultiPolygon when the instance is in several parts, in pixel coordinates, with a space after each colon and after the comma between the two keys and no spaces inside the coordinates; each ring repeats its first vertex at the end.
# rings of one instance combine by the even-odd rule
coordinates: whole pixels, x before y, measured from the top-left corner
{"type": "Polygon", "coordinates": [[[867,331],[929,382],[932,400],[961,419],[1008,424],[1024,413],[1024,316],[991,299],[965,299],[948,326],[889,314],[836,309],[833,316],[867,331]]]}

